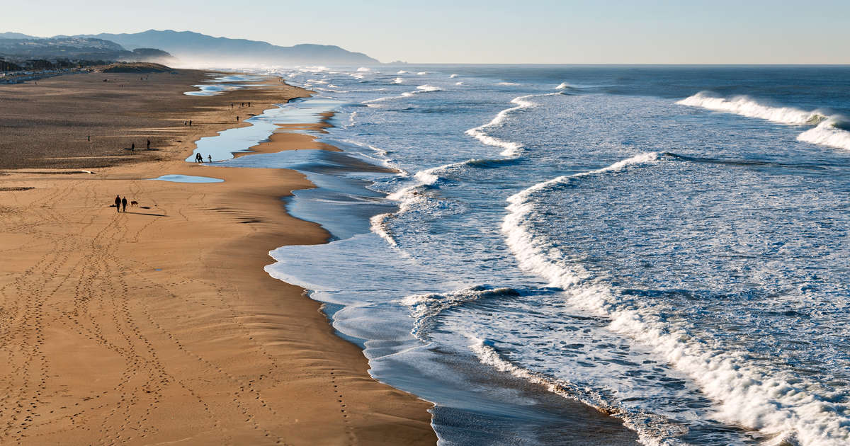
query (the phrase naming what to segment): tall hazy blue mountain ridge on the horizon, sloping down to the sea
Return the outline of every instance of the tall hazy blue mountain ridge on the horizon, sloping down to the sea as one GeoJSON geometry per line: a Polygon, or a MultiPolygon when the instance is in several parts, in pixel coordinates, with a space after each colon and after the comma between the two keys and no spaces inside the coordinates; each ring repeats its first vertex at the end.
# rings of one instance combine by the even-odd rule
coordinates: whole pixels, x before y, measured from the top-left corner
{"type": "Polygon", "coordinates": [[[301,44],[279,47],[269,42],[212,37],[192,31],[148,30],[134,34],[88,34],[75,37],[105,39],[124,48],[160,48],[187,61],[224,64],[375,65],[376,59],[335,45],[301,44]]]}

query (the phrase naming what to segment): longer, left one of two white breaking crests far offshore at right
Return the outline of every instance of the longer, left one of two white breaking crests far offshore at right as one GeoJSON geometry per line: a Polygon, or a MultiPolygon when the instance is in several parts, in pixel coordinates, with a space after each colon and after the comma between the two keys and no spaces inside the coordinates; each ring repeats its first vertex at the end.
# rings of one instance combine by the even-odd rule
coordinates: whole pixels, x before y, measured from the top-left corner
{"type": "Polygon", "coordinates": [[[747,96],[735,96],[732,99],[717,98],[710,93],[700,92],[677,104],[702,107],[708,110],[727,111],[737,115],[767,119],[768,121],[792,125],[813,125],[824,121],[827,116],[819,111],[805,111],[793,107],[771,107],[762,105],[747,96]]]}

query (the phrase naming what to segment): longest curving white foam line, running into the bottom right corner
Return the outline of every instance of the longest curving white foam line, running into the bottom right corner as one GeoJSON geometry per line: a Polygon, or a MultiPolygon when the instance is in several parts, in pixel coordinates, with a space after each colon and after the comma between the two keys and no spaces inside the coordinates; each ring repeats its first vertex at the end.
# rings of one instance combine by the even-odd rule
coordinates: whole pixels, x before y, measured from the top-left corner
{"type": "Polygon", "coordinates": [[[616,295],[609,285],[590,279],[581,265],[570,262],[557,241],[534,229],[538,209],[533,198],[537,193],[582,177],[621,172],[626,167],[657,160],[657,154],[644,153],[596,171],[553,178],[508,198],[508,215],[501,229],[520,267],[564,290],[568,302],[576,308],[608,318],[609,330],[652,347],[660,357],[690,375],[702,392],[717,402],[718,416],[723,421],[757,429],[786,444],[850,443],[850,426],[842,415],[847,408],[842,404],[810,392],[799,378],[786,379],[780,371],[757,366],[745,353],[695,339],[637,298],[616,295]]]}

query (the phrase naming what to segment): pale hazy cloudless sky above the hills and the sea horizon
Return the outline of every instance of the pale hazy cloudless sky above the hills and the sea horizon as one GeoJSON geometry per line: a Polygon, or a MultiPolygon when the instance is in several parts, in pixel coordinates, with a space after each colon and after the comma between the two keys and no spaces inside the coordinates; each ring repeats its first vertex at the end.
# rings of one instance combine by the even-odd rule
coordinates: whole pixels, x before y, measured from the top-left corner
{"type": "Polygon", "coordinates": [[[850,0],[42,0],[0,31],[198,31],[339,45],[390,62],[850,64],[850,0]]]}

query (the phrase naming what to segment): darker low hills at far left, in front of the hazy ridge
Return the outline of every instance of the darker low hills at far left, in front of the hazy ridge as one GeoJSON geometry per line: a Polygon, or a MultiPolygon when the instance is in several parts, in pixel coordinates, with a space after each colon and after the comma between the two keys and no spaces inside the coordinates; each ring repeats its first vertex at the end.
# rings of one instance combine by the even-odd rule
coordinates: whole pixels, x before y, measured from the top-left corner
{"type": "MultiPolygon", "coordinates": [[[[3,35],[17,33],[3,33],[3,35]]],[[[68,59],[167,61],[171,54],[154,48],[127,51],[116,42],[88,37],[0,38],[0,58],[7,60],[68,59]]]]}

